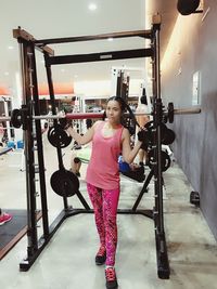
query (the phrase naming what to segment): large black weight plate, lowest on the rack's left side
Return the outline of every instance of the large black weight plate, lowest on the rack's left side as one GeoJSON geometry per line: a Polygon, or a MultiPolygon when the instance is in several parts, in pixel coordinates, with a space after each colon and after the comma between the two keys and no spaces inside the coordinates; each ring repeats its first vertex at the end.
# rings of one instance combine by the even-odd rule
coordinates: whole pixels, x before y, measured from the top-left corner
{"type": "Polygon", "coordinates": [[[71,171],[59,170],[51,175],[50,184],[59,196],[72,197],[79,189],[79,180],[71,171]]]}

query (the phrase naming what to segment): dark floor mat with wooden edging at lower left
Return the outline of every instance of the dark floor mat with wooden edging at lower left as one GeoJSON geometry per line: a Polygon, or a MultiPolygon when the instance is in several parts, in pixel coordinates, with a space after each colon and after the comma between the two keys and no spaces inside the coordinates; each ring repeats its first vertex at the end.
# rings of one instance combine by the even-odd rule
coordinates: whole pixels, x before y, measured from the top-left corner
{"type": "MultiPolygon", "coordinates": [[[[13,219],[0,226],[0,260],[16,245],[27,231],[26,210],[4,210],[11,213],[13,219]]],[[[41,218],[41,212],[37,214],[37,220],[41,218]]]]}

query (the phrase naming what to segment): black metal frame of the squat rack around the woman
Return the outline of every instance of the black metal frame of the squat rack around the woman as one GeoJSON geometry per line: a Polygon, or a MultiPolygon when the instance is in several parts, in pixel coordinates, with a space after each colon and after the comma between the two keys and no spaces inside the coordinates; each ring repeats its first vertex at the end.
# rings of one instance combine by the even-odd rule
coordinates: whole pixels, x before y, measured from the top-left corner
{"type": "MultiPolygon", "coordinates": [[[[61,211],[59,216],[49,225],[48,216],[48,201],[47,201],[47,189],[46,189],[46,176],[44,176],[44,163],[43,163],[43,146],[41,140],[41,127],[40,120],[35,120],[35,132],[33,127],[31,116],[40,116],[39,108],[39,95],[38,95],[38,81],[37,81],[37,68],[35,49],[41,51],[44,55],[46,69],[48,77],[48,84],[50,91],[50,100],[52,105],[52,113],[55,115],[54,104],[54,90],[52,82],[51,65],[66,64],[66,63],[80,63],[80,62],[95,62],[95,61],[111,61],[120,58],[132,58],[132,57],[152,57],[153,68],[153,95],[154,95],[154,128],[155,128],[155,165],[150,174],[150,180],[154,175],[155,180],[155,207],[153,210],[138,210],[137,207],[140,199],[137,199],[132,209],[125,210],[118,209],[118,213],[127,214],[142,214],[144,216],[154,220],[155,224],[155,239],[156,239],[156,258],[157,258],[157,274],[159,278],[169,278],[169,263],[167,257],[167,247],[164,233],[164,215],[163,215],[163,184],[162,184],[162,169],[161,169],[161,121],[163,105],[161,101],[161,79],[159,79],[159,27],[161,19],[156,17],[153,19],[151,30],[137,30],[126,32],[114,32],[98,36],[82,36],[82,37],[71,37],[71,38],[58,38],[58,39],[42,39],[36,40],[31,35],[25,30],[14,29],[13,36],[20,42],[21,51],[21,67],[23,76],[23,105],[22,105],[22,118],[24,120],[24,141],[25,141],[25,157],[26,157],[26,192],[27,192],[27,258],[20,263],[21,271],[28,271],[35,260],[38,258],[40,252],[44,249],[47,244],[52,238],[53,234],[61,226],[63,221],[78,213],[92,213],[89,205],[84,199],[80,192],[77,193],[79,200],[81,201],[84,209],[75,209],[69,207],[67,203],[67,197],[63,197],[64,209],[61,211]],[[129,50],[129,51],[114,51],[114,52],[102,52],[84,55],[60,55],[54,56],[52,49],[47,44],[54,43],[66,43],[76,41],[89,41],[113,38],[126,38],[126,37],[142,37],[151,40],[151,48],[143,50],[129,50]],[[36,133],[36,135],[34,135],[36,133]],[[36,136],[36,137],[35,137],[36,136]],[[38,147],[38,167],[39,167],[39,183],[40,183],[40,197],[41,197],[41,212],[42,212],[42,225],[43,235],[38,239],[37,234],[37,220],[36,220],[36,157],[34,153],[34,142],[37,142],[38,147]]],[[[54,119],[54,126],[56,120],[54,119]]],[[[56,148],[59,167],[63,167],[61,147],[56,148]]],[[[150,181],[149,180],[149,181],[150,181]]],[[[148,182],[148,180],[146,180],[148,182]]],[[[149,183],[149,182],[148,182],[149,183]]],[[[146,183],[146,184],[148,184],[146,183]]]]}

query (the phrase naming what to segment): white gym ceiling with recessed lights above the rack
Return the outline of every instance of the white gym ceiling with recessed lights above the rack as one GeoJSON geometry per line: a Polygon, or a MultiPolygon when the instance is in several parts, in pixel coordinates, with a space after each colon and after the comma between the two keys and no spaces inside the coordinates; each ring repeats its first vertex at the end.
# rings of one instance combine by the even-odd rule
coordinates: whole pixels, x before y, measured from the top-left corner
{"type": "MultiPolygon", "coordinates": [[[[161,54],[163,55],[177,17],[176,0],[0,0],[0,86],[15,86],[20,71],[18,44],[12,30],[21,26],[36,39],[91,36],[108,32],[145,29],[151,15],[162,15],[161,54]],[[90,11],[94,2],[98,9],[90,11]]],[[[150,27],[146,27],[150,28],[150,27]]],[[[144,48],[144,40],[137,38],[98,40],[50,45],[55,54],[82,54],[144,48]]],[[[144,68],[144,58],[106,61],[54,66],[53,80],[75,82],[111,79],[112,66],[144,68]]],[[[37,53],[39,82],[46,82],[43,57],[37,53]]],[[[133,71],[130,77],[138,78],[133,71]]]]}

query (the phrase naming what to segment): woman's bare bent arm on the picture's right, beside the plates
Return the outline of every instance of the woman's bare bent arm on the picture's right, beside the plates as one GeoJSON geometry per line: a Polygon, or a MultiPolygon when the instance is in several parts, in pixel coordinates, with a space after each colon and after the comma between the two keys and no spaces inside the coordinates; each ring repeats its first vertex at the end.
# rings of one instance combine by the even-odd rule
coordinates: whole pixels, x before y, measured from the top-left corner
{"type": "Polygon", "coordinates": [[[135,147],[131,149],[130,147],[130,134],[129,131],[127,129],[123,130],[123,158],[126,162],[131,163],[135,159],[135,157],[137,156],[140,146],[141,146],[142,142],[138,141],[135,144],[135,147]]]}

